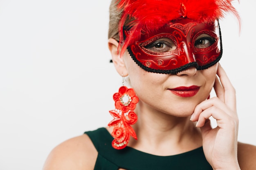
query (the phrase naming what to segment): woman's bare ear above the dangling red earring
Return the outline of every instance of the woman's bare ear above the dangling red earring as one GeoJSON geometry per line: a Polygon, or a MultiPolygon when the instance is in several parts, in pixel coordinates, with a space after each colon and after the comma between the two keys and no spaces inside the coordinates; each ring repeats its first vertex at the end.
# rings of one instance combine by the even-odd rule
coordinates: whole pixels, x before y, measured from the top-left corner
{"type": "Polygon", "coordinates": [[[113,38],[108,39],[108,49],[112,55],[112,61],[115,65],[117,72],[120,76],[128,76],[128,72],[124,63],[123,57],[120,57],[120,51],[118,51],[119,42],[113,38]]]}

